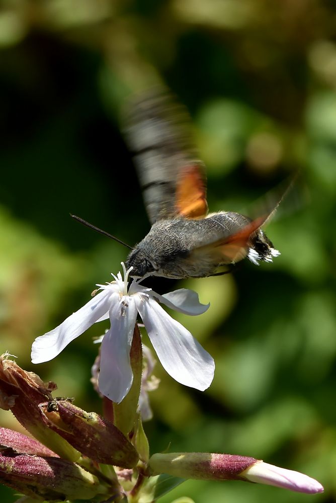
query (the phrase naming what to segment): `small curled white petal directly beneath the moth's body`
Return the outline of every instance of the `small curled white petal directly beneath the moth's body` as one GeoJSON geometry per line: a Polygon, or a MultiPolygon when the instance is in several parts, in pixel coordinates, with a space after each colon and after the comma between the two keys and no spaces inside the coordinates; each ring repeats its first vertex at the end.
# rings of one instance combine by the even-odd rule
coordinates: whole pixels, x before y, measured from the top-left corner
{"type": "Polygon", "coordinates": [[[181,288],[180,290],[165,293],[164,295],[152,292],[152,296],[158,299],[162,304],[165,304],[167,307],[184,314],[190,314],[191,316],[203,314],[210,306],[210,303],[201,304],[198,298],[198,293],[193,290],[188,290],[187,288],[181,288]]]}

